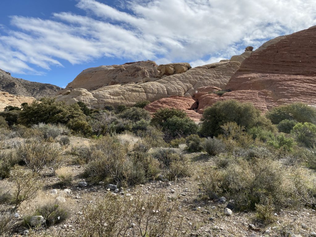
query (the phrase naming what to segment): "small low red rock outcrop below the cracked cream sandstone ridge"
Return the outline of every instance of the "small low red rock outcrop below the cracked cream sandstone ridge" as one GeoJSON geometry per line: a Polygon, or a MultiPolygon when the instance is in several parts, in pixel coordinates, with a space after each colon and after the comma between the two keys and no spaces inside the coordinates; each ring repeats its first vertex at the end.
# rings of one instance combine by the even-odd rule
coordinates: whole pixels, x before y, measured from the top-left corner
{"type": "Polygon", "coordinates": [[[200,121],[202,118],[202,115],[195,111],[195,109],[197,109],[197,102],[190,97],[170,96],[168,98],[156,100],[144,107],[144,109],[151,113],[154,113],[161,108],[182,109],[194,121],[200,121]]]}

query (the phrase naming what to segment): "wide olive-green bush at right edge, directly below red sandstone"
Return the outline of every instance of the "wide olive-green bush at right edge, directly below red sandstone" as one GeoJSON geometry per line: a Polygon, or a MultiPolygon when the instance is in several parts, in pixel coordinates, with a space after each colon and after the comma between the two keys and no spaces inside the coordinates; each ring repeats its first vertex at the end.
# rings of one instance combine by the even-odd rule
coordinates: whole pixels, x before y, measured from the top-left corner
{"type": "Polygon", "coordinates": [[[315,108],[301,102],[274,107],[267,112],[266,117],[274,124],[279,124],[285,119],[316,124],[315,108]]]}

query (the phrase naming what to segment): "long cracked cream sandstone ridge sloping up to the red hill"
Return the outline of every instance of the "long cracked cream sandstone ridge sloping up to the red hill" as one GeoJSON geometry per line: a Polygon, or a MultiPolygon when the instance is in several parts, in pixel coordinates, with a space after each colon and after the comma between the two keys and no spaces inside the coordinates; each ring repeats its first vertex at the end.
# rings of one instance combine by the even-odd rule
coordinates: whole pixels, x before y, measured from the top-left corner
{"type": "Polygon", "coordinates": [[[240,62],[220,62],[191,68],[186,72],[164,76],[151,82],[111,85],[92,91],[85,88],[66,88],[57,96],[57,100],[66,101],[67,104],[83,101],[90,108],[102,109],[106,105],[131,106],[142,100],[153,102],[171,95],[191,97],[197,88],[224,88],[239,67],[240,62]]]}

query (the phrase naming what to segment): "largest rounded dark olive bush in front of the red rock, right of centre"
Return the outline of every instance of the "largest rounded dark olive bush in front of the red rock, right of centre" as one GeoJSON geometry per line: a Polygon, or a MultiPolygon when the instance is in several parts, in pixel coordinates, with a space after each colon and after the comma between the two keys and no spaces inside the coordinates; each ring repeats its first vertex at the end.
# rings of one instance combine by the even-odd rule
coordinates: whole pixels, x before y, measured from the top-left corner
{"type": "Polygon", "coordinates": [[[201,119],[200,132],[206,137],[218,136],[223,133],[222,125],[235,122],[246,130],[256,125],[268,125],[261,116],[260,110],[251,103],[236,100],[218,101],[205,109],[201,119]]]}

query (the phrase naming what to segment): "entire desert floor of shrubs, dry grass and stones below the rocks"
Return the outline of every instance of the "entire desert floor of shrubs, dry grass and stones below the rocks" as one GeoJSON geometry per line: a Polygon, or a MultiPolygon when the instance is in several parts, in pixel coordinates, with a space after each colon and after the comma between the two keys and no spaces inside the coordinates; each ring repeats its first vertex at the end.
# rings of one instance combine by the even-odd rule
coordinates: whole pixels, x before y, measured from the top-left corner
{"type": "Polygon", "coordinates": [[[195,123],[147,104],[1,112],[0,235],[313,234],[314,108],[225,100],[195,123]]]}

